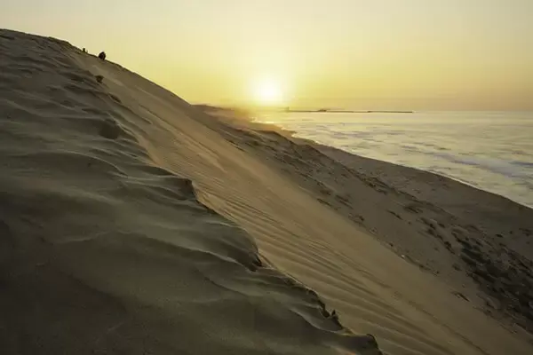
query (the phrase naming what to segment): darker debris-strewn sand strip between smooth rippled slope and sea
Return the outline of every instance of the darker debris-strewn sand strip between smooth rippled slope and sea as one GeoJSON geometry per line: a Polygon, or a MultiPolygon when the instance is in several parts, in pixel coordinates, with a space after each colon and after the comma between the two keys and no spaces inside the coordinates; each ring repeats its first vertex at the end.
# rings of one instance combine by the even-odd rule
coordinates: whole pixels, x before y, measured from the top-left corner
{"type": "Polygon", "coordinates": [[[245,132],[230,139],[253,147],[264,162],[290,162],[287,176],[317,201],[434,273],[454,295],[533,332],[533,209],[447,177],[293,138],[227,110],[208,111],[245,132]]]}

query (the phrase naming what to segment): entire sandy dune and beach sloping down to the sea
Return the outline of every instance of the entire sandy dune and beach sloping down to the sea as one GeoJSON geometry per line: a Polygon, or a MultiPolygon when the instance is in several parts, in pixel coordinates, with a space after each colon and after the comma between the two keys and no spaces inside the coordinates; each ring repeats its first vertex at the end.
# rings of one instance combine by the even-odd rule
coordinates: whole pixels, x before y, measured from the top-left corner
{"type": "Polygon", "coordinates": [[[533,351],[530,209],[59,40],[1,30],[0,69],[3,353],[533,351]]]}

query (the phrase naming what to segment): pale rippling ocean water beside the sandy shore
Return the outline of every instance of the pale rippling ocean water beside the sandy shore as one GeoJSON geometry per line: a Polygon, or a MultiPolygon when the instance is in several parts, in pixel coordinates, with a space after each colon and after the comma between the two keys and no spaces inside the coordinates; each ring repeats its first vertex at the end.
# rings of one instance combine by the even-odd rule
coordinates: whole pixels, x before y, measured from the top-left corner
{"type": "Polygon", "coordinates": [[[533,208],[533,112],[264,113],[256,121],[533,208]]]}

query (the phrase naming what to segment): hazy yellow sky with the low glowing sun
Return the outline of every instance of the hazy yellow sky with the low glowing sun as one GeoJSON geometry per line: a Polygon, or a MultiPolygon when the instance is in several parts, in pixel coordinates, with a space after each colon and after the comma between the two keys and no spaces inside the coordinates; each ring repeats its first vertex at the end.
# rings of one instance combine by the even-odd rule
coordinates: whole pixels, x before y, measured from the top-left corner
{"type": "Polygon", "coordinates": [[[533,110],[533,0],[3,0],[214,105],[533,110]]]}

